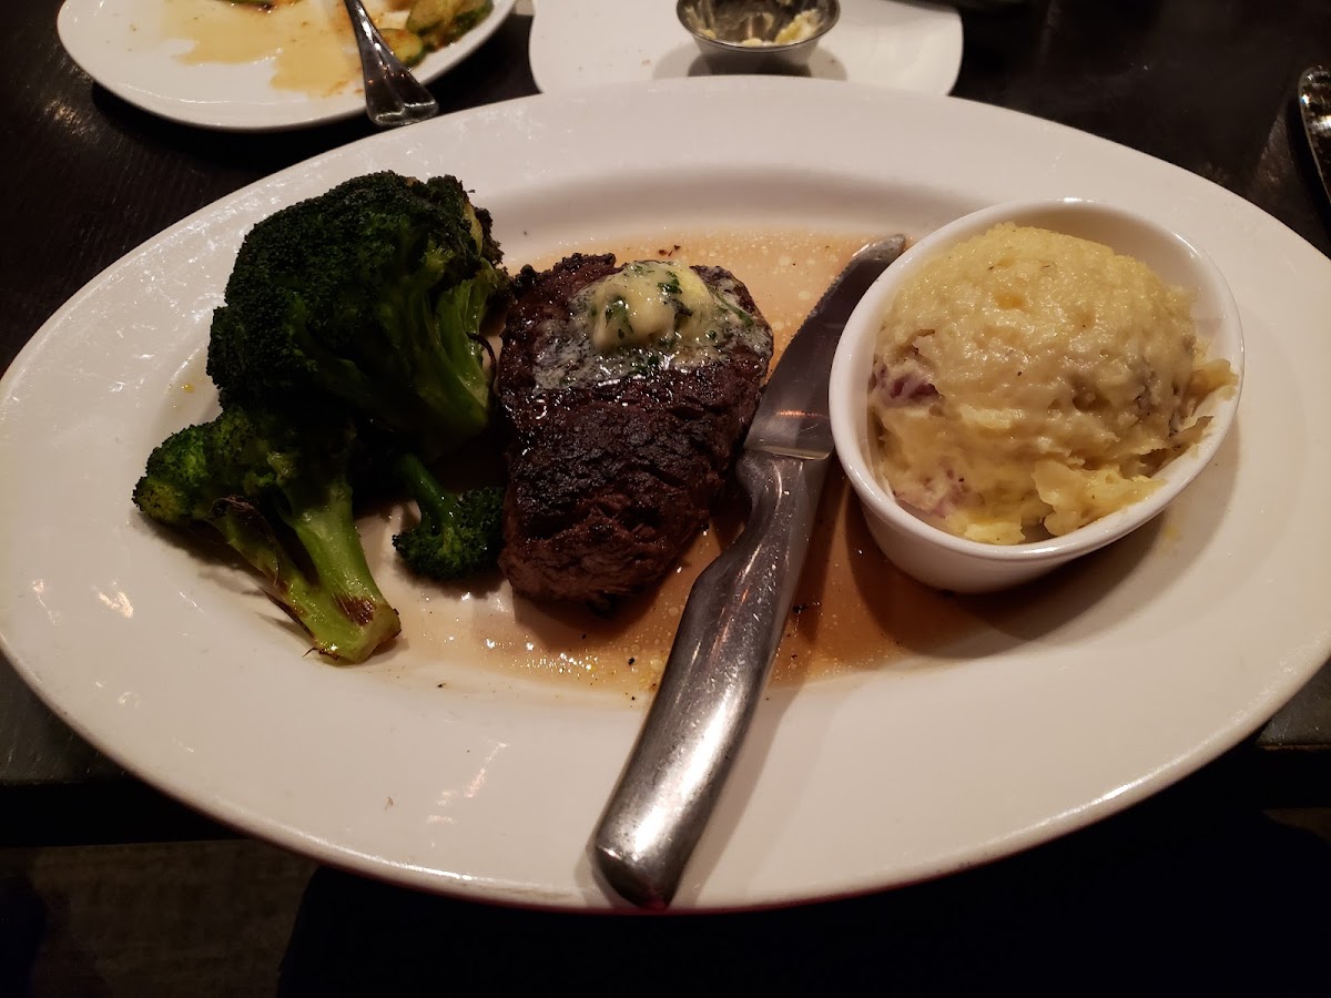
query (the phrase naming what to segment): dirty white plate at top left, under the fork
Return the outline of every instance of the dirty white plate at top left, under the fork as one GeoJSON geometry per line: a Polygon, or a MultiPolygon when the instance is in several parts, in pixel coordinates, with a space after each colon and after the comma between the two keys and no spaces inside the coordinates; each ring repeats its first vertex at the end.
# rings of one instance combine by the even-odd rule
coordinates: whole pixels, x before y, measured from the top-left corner
{"type": "MultiPolygon", "coordinates": [[[[337,93],[311,96],[273,86],[272,59],[241,64],[182,61],[180,56],[192,43],[162,32],[162,5],[182,1],[192,0],[65,0],[56,29],[69,57],[93,80],[146,112],[186,125],[274,132],[365,113],[359,72],[337,93]]],[[[342,7],[342,0],[301,3],[321,16],[342,7]]],[[[429,53],[413,71],[417,79],[427,84],[471,55],[494,35],[514,3],[495,0],[486,20],[453,45],[429,53]]],[[[350,29],[346,51],[354,61],[350,29]]]]}

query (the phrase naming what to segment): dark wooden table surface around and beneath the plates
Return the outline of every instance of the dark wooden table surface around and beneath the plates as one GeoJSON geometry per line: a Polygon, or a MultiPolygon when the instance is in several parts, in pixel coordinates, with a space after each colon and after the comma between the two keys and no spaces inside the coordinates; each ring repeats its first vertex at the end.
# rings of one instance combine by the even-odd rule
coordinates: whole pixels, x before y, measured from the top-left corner
{"type": "MultiPolygon", "coordinates": [[[[56,37],[57,7],[56,0],[37,0],[7,9],[0,370],[69,295],[142,241],[224,194],[373,132],[359,117],[253,136],[158,120],[71,63],[56,37]]],[[[1252,201],[1331,254],[1331,209],[1315,188],[1292,102],[1300,69],[1331,63],[1326,0],[1008,7],[974,0],[969,7],[957,96],[1051,118],[1178,164],[1252,201]]],[[[431,89],[442,110],[535,93],[528,33],[530,17],[514,15],[438,80],[431,89]]],[[[966,890],[997,910],[1014,877],[1110,877],[1105,872],[1117,868],[1106,857],[1121,854],[1125,842],[1131,852],[1143,841],[1195,845],[1201,836],[1222,849],[1199,830],[1217,828],[1211,820],[1218,814],[1331,806],[1328,760],[1331,669],[1323,669],[1262,732],[1178,788],[1101,828],[998,864],[994,873],[950,878],[950,886],[937,885],[941,893],[932,896],[920,894],[922,888],[906,894],[945,925],[942,913],[949,904],[968,904],[966,890]]],[[[224,833],[121,773],[60,724],[3,660],[0,816],[0,844],[9,845],[224,833]]]]}

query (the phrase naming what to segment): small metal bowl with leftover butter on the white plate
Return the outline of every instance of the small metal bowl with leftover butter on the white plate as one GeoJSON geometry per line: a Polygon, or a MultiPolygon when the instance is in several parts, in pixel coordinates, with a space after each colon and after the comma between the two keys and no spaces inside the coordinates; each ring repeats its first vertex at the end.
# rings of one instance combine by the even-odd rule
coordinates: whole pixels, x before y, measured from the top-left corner
{"type": "Polygon", "coordinates": [[[819,40],[841,17],[837,0],[679,0],[707,65],[717,73],[788,73],[804,69],[819,40]],[[800,31],[801,25],[807,25],[800,31]],[[783,32],[797,36],[777,41],[783,32]]]}

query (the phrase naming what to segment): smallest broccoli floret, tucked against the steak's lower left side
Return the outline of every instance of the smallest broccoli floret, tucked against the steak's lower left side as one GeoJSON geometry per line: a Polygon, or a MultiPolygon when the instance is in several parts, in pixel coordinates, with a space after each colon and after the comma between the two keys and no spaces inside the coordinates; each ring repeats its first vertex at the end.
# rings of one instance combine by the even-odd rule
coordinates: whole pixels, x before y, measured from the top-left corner
{"type": "Polygon", "coordinates": [[[503,488],[479,486],[450,492],[414,454],[403,455],[397,467],[421,511],[415,526],[393,538],[407,567],[439,582],[494,568],[503,547],[503,488]]]}

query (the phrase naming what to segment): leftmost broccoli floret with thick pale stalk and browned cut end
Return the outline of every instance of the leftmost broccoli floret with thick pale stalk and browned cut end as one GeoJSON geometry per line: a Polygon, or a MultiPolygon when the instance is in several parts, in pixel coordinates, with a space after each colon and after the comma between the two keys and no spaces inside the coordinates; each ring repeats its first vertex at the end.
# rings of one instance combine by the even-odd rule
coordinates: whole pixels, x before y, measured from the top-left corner
{"type": "Polygon", "coordinates": [[[318,651],[363,661],[401,624],[351,515],[353,446],[347,419],[233,405],[158,444],[134,503],[160,523],[220,534],[318,651]]]}

